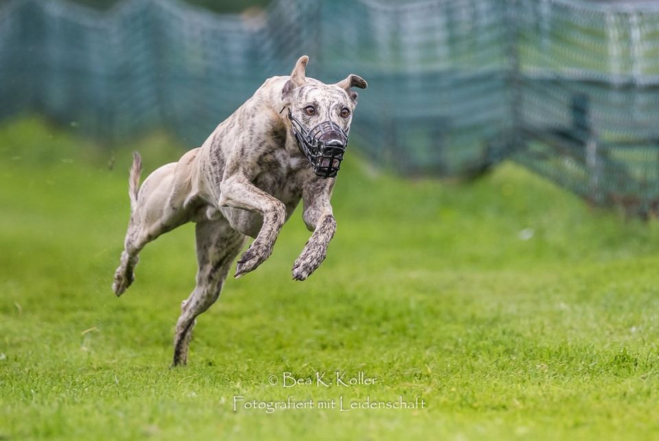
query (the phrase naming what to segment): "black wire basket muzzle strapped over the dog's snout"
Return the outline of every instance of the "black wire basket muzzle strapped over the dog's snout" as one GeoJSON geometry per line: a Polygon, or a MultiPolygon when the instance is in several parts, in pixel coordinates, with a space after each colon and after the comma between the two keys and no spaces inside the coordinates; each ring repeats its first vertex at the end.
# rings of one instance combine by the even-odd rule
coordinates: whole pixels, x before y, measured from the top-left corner
{"type": "Polygon", "coordinates": [[[293,134],[300,151],[307,157],[314,173],[321,178],[334,178],[340,169],[348,134],[332,121],[323,121],[307,131],[288,110],[293,134]]]}

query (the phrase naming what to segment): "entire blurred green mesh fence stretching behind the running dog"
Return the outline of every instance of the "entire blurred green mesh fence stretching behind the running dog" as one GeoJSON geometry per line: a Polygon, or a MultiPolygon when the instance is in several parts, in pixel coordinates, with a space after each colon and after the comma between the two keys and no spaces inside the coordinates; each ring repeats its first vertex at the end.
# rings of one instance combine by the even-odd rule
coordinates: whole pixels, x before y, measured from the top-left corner
{"type": "Polygon", "coordinates": [[[166,126],[194,147],[302,55],[369,81],[351,136],[405,174],[511,157],[597,204],[659,210],[659,5],[580,0],[274,0],[214,14],[167,0],[99,12],[0,5],[0,117],[100,139],[166,126]]]}

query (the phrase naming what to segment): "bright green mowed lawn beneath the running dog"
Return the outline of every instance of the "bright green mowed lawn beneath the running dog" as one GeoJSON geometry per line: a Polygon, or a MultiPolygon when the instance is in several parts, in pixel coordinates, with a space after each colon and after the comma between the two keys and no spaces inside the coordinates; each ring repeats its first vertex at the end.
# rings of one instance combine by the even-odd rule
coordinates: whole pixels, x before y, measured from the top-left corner
{"type": "Polygon", "coordinates": [[[291,280],[310,234],[298,210],[170,370],[194,226],[151,243],[115,298],[132,150],[146,172],[183,151],[0,126],[0,440],[659,438],[656,222],[509,163],[469,184],[404,180],[353,150],[321,268],[291,280]],[[282,385],[336,371],[377,381],[282,385]],[[350,407],[399,396],[426,407],[350,407]],[[288,397],[315,406],[244,408],[288,397]]]}

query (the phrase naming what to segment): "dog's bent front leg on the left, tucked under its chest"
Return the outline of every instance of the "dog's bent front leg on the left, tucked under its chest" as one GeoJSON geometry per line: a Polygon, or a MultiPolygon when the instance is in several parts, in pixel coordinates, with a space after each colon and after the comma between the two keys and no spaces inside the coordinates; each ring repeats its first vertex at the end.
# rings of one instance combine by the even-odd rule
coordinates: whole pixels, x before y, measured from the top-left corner
{"type": "Polygon", "coordinates": [[[220,206],[256,211],[263,216],[259,234],[238,259],[235,267],[235,277],[238,278],[255,270],[273,252],[275,240],[286,222],[286,206],[274,196],[255,187],[242,172],[224,178],[220,192],[220,206]]]}

